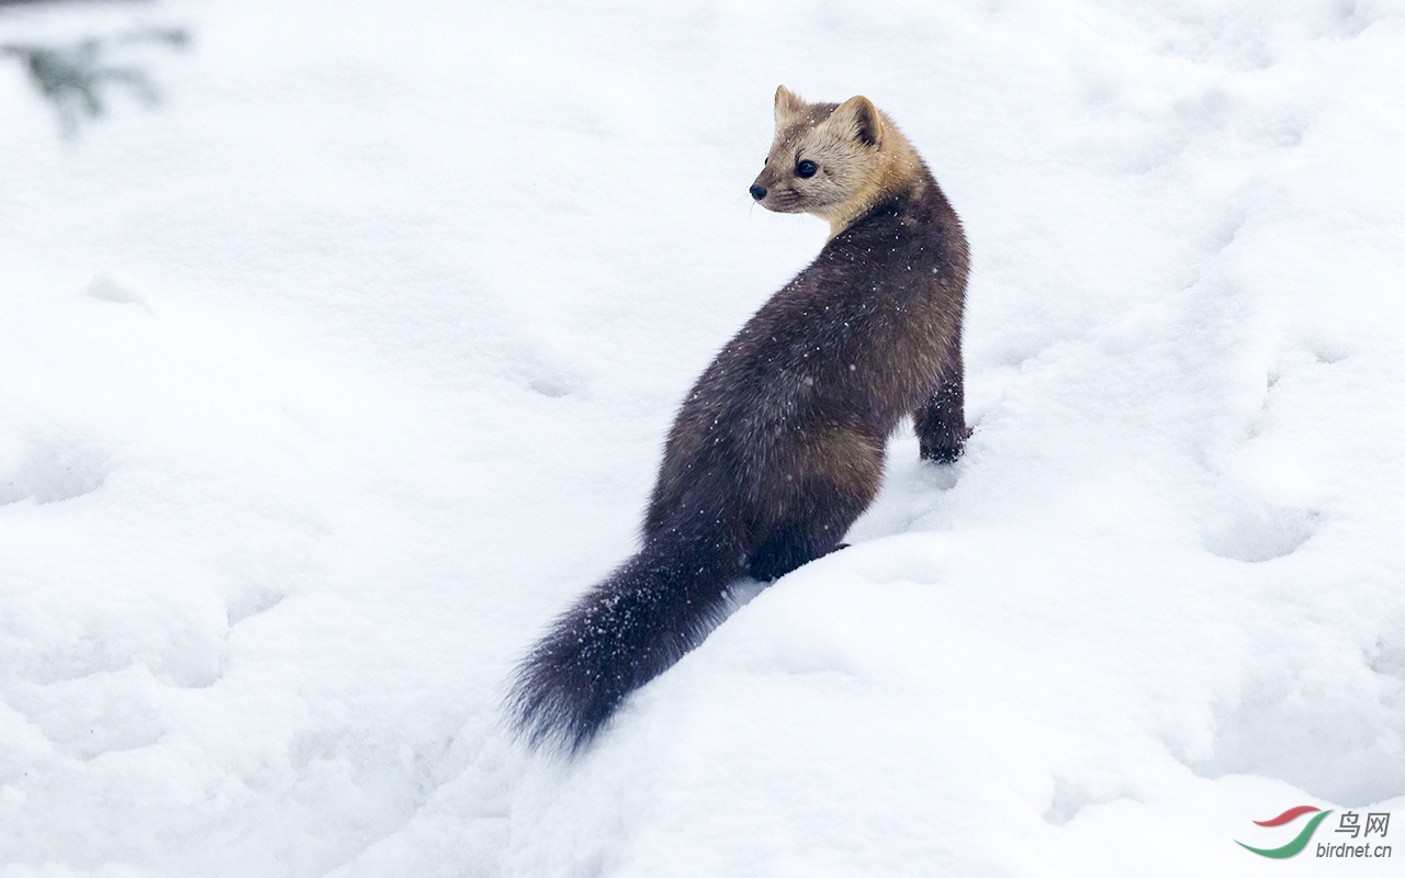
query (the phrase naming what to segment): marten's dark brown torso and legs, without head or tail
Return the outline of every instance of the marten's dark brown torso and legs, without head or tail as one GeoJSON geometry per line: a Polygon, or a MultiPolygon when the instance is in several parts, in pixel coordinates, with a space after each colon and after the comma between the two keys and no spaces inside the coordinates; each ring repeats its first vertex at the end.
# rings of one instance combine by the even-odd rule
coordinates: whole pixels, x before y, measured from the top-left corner
{"type": "Polygon", "coordinates": [[[722,348],[679,413],[645,518],[718,516],[752,576],[833,549],[882,480],[913,414],[923,457],[965,441],[961,306],[967,247],[930,174],[833,237],[722,348]]]}

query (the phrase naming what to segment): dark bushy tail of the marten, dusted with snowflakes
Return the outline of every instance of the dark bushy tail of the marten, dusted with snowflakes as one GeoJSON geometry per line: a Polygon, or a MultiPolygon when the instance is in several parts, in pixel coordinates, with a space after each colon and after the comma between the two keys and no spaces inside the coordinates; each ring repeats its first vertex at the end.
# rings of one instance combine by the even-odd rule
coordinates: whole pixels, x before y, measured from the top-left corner
{"type": "Polygon", "coordinates": [[[507,705],[531,746],[579,752],[625,695],[667,670],[726,614],[742,575],[726,539],[660,535],[555,621],[517,669],[507,705]]]}

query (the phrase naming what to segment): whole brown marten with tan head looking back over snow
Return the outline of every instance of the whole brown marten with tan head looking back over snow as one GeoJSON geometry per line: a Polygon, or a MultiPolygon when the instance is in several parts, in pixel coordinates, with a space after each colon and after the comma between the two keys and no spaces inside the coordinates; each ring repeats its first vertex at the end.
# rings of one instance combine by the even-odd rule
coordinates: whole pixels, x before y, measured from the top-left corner
{"type": "Polygon", "coordinates": [[[776,138],[750,194],[829,221],[830,237],[683,400],[639,552],[559,617],[507,707],[531,745],[575,753],[621,701],[718,625],[729,587],[842,548],[912,416],[920,454],[960,457],[968,251],[932,171],[863,96],[776,90],[776,138]]]}

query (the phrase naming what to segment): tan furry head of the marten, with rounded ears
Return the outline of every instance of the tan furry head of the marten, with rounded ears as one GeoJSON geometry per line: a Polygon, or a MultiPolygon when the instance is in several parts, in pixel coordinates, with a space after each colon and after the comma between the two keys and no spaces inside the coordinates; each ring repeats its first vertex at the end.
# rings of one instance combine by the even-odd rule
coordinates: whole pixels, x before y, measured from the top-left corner
{"type": "Polygon", "coordinates": [[[882,195],[912,185],[919,167],[906,138],[868,98],[808,104],[781,86],[776,139],[752,197],[769,211],[828,219],[833,236],[882,195]]]}

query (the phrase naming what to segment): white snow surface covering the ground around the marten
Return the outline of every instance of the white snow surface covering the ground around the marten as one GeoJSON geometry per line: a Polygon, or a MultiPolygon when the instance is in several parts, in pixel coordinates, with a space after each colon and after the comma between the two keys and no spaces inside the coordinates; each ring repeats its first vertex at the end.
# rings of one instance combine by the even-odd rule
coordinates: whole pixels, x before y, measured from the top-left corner
{"type": "Polygon", "coordinates": [[[1399,874],[1234,843],[1405,833],[1399,1],[0,42],[133,21],[194,48],[76,142],[0,66],[0,874],[1399,874]],[[746,194],[778,83],[874,98],[964,218],[976,434],[895,437],[853,548],[528,754],[513,662],[825,240],[746,194]]]}

